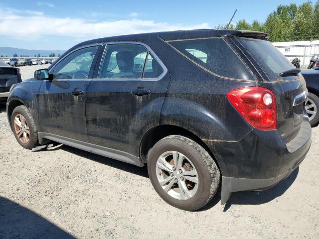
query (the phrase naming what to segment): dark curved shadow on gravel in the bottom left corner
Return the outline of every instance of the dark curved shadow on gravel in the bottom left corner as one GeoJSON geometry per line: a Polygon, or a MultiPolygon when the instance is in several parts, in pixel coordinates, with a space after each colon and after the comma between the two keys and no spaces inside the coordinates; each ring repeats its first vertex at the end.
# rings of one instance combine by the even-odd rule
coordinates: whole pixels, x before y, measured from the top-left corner
{"type": "Polygon", "coordinates": [[[0,238],[73,239],[74,237],[31,210],[0,197],[0,238]]]}

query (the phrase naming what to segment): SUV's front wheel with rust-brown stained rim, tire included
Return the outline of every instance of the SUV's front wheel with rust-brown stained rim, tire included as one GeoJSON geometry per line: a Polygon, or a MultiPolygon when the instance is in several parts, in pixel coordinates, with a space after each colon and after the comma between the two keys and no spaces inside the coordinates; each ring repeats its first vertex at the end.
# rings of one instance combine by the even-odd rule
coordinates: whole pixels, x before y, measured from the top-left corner
{"type": "Polygon", "coordinates": [[[25,106],[18,106],[13,110],[11,128],[23,148],[32,149],[39,145],[35,122],[25,106]]]}

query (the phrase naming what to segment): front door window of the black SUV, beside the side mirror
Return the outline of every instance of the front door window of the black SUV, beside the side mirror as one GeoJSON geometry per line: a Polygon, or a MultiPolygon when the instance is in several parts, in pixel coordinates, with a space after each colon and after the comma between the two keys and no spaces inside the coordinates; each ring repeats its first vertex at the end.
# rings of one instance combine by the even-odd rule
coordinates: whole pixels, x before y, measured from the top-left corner
{"type": "Polygon", "coordinates": [[[87,47],[68,55],[55,66],[53,79],[88,78],[97,49],[98,46],[87,47]]]}

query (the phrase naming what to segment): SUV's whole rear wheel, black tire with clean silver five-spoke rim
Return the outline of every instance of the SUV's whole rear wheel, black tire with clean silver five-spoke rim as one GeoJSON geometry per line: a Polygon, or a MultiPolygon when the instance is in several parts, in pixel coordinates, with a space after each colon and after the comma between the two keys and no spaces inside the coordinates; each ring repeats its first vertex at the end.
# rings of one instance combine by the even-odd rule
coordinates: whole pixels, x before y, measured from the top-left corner
{"type": "Polygon", "coordinates": [[[194,211],[216,194],[219,169],[195,141],[180,135],[167,136],[154,145],[148,158],[151,182],[168,204],[194,211]]]}

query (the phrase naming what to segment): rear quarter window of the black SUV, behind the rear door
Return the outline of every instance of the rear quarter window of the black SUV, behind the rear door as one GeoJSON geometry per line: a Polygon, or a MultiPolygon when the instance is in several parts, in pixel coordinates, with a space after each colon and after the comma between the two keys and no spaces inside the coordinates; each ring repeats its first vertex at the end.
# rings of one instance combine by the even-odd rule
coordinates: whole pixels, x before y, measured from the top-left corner
{"type": "Polygon", "coordinates": [[[182,55],[219,77],[254,80],[242,60],[222,38],[168,41],[182,55]]]}

